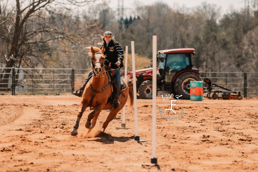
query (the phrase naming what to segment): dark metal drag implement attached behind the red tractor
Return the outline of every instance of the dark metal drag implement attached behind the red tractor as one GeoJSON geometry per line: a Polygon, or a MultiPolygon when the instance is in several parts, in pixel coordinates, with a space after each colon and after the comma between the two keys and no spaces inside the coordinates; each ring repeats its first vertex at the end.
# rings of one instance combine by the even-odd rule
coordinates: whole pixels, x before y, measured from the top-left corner
{"type": "Polygon", "coordinates": [[[208,99],[243,99],[240,92],[231,91],[230,89],[214,84],[208,78],[204,78],[203,81],[208,85],[208,87],[204,87],[203,89],[203,96],[208,99]]]}

